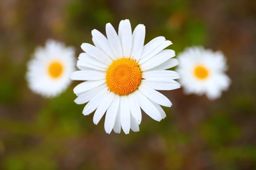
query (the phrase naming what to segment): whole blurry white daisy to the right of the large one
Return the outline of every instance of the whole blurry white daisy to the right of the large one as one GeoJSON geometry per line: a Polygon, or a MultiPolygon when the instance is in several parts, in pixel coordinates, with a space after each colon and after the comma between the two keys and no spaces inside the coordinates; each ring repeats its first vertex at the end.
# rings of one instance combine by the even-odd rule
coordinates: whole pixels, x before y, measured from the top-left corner
{"type": "Polygon", "coordinates": [[[186,94],[206,94],[209,99],[216,99],[228,89],[230,78],[225,74],[226,58],[220,51],[190,47],[177,59],[180,64],[176,71],[186,94]]]}

